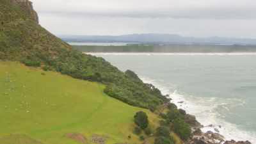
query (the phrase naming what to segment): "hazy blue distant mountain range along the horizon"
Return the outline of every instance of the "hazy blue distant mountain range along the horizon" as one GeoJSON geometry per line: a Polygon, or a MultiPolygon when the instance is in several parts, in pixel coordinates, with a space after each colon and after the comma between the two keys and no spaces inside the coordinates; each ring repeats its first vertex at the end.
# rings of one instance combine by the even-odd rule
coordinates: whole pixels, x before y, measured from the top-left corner
{"type": "Polygon", "coordinates": [[[171,34],[132,34],[119,36],[60,35],[66,42],[134,42],[149,44],[202,44],[202,45],[256,45],[252,38],[205,37],[196,38],[171,34]]]}

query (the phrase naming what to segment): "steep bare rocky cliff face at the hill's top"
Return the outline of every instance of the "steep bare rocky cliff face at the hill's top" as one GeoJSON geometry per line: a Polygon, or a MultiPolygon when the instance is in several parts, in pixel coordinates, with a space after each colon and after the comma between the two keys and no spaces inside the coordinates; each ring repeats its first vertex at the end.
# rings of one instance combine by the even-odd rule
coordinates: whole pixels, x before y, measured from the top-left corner
{"type": "Polygon", "coordinates": [[[18,4],[20,6],[20,8],[31,17],[31,19],[35,20],[35,22],[37,24],[39,23],[38,15],[35,12],[35,10],[33,9],[33,4],[31,1],[29,1],[29,0],[11,0],[11,2],[13,4],[18,4]]]}

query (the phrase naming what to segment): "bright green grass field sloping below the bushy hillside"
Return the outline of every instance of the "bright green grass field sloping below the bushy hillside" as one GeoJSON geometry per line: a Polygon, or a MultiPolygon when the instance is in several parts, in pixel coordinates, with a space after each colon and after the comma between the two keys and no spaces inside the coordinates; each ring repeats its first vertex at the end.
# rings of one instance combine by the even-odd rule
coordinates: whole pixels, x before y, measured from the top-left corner
{"type": "Polygon", "coordinates": [[[0,62],[0,144],[76,144],[65,137],[72,132],[83,134],[87,143],[93,134],[106,143],[141,143],[132,134],[134,114],[147,112],[152,127],[157,116],[108,97],[103,89],[99,83],[0,62]]]}

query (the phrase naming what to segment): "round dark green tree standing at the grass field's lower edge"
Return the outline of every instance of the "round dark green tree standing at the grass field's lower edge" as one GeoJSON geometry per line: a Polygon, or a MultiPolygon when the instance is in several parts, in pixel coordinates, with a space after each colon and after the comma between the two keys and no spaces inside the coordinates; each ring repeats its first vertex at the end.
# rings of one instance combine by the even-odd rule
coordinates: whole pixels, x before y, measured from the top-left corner
{"type": "Polygon", "coordinates": [[[146,129],[148,127],[148,116],[145,112],[139,111],[134,116],[134,122],[141,129],[146,129]]]}

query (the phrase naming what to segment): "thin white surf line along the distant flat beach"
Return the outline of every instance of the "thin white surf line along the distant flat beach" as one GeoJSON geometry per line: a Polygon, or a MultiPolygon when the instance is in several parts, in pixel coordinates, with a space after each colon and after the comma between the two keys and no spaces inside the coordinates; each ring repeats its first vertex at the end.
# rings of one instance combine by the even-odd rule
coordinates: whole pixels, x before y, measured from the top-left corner
{"type": "Polygon", "coordinates": [[[84,52],[92,55],[256,56],[256,52],[84,52]]]}

